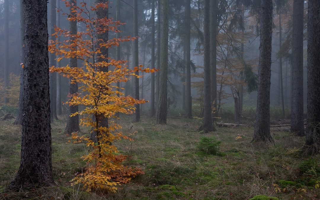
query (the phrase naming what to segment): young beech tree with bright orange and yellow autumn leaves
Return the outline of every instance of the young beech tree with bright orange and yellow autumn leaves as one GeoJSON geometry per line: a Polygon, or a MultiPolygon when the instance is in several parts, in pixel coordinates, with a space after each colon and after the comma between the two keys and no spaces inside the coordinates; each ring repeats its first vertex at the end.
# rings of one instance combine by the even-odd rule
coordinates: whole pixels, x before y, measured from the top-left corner
{"type": "Polygon", "coordinates": [[[71,84],[81,83],[83,85],[79,88],[82,93],[69,94],[70,100],[66,104],[85,107],[81,111],[71,113],[71,116],[82,116],[80,125],[90,127],[91,133],[96,134],[94,140],[97,141],[95,142],[87,136],[80,136],[77,132],[72,134],[73,143],[84,143],[92,151],[82,157],[87,162],[86,171],[77,174],[71,183],[72,185],[82,184],[86,191],[107,189],[115,192],[116,186],[127,183],[132,177],[143,172],[140,168],[123,165],[126,156],[119,154],[113,144],[116,140],[131,139],[118,131],[121,126],[115,124],[112,118],[117,118],[117,113],[132,114],[136,110],[136,104],[146,102],[145,100],[136,100],[131,96],[124,96],[124,93],[121,92],[123,88],[118,90],[116,85],[118,82],[127,82],[130,76],[139,78],[136,75],[137,72],[148,73],[155,70],[142,69],[142,66],[130,70],[125,66],[126,61],[106,58],[101,53],[101,48],[118,46],[120,42],[136,39],[127,37],[106,41],[104,38],[94,37],[108,31],[118,32],[117,26],[121,25],[119,21],[113,22],[107,17],[97,18],[98,15],[90,13],[97,12],[97,10],[106,11],[108,9],[107,3],[97,3],[94,7],[89,7],[83,2],[80,2],[79,6],[66,2],[66,6],[71,7],[71,13],[73,13],[68,16],[68,20],[84,23],[87,29],[84,32],[78,31],[76,34],[72,34],[70,31],[56,28],[54,36],[63,35],[66,38],[71,36],[73,39],[71,42],[69,39],[63,42],[50,41],[49,50],[61,56],[57,61],[62,58],[76,58],[82,60],[83,65],[77,68],[68,65],[60,68],[52,67],[50,70],[70,78],[71,84]],[[114,70],[110,70],[111,66],[114,66],[114,70]],[[103,123],[105,118],[108,119],[107,126],[103,123]]]}

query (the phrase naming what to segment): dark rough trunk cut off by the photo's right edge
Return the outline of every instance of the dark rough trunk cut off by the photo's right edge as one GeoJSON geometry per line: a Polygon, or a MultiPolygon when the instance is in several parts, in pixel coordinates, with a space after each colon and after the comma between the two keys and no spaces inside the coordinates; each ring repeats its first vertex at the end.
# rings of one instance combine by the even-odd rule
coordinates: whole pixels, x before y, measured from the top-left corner
{"type": "Polygon", "coordinates": [[[320,1],[308,1],[308,100],[307,134],[308,153],[320,152],[320,1]]]}

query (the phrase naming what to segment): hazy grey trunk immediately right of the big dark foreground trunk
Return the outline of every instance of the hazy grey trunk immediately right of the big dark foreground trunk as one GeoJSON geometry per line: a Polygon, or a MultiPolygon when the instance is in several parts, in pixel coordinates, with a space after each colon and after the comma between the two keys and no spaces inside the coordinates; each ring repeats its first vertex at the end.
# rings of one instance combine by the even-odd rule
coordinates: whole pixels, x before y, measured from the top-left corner
{"type": "MultiPolygon", "coordinates": [[[[56,0],[50,0],[50,26],[49,26],[49,38],[50,40],[55,40],[55,37],[52,34],[55,33],[54,27],[56,26],[56,0]]],[[[49,66],[56,66],[56,56],[54,53],[49,53],[49,66]]],[[[56,83],[56,73],[50,73],[50,115],[51,121],[53,119],[58,119],[57,117],[57,103],[56,103],[56,96],[57,96],[57,83],[56,83]]]]}

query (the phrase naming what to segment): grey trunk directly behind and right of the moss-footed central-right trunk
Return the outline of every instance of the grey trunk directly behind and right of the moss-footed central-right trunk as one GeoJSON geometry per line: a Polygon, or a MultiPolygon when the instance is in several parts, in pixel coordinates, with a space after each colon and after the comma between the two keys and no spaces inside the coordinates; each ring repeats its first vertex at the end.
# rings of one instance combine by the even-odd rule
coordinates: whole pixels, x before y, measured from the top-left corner
{"type": "MultiPolygon", "coordinates": [[[[211,65],[211,102],[217,109],[217,0],[210,1],[210,65],[211,65]]],[[[216,110],[212,113],[212,120],[217,117],[216,110]]]]}

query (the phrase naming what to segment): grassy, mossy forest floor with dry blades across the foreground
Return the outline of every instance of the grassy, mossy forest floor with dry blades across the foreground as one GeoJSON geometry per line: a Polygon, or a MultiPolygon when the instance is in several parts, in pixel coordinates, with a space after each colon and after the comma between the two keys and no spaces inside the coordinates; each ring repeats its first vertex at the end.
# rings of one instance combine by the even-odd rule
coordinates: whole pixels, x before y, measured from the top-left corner
{"type": "MultiPolygon", "coordinates": [[[[306,157],[305,138],[273,132],[276,144],[251,143],[253,128],[219,128],[197,133],[198,119],[168,118],[120,121],[123,132],[135,140],[116,146],[129,155],[127,165],[145,174],[121,186],[116,194],[86,193],[69,181],[85,166],[81,156],[88,148],[69,144],[64,121],[52,123],[53,175],[57,185],[17,193],[5,187],[20,165],[21,128],[12,121],[0,123],[0,199],[250,199],[264,194],[279,199],[320,199],[320,156],[306,157]],[[137,131],[137,133],[134,133],[137,131]],[[201,137],[221,141],[219,153],[206,154],[197,147],[201,137]]],[[[82,130],[82,132],[85,132],[82,130]]],[[[268,198],[269,199],[269,198],[268,198]]]]}

